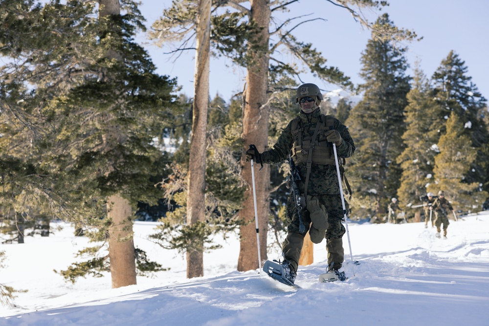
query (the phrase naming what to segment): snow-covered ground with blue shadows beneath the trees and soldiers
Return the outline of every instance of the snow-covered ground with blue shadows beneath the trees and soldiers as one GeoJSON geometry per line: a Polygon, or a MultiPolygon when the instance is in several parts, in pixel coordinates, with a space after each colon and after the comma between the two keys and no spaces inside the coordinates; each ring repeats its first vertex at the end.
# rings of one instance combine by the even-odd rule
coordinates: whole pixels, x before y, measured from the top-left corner
{"type": "MultiPolygon", "coordinates": [[[[7,257],[0,283],[28,290],[15,306],[0,307],[0,326],[489,325],[489,212],[451,221],[448,239],[424,223],[349,223],[361,264],[345,264],[346,282],[318,283],[323,241],[314,263],[299,267],[302,289],[236,271],[237,238],[204,255],[204,277],[186,279],[184,258],[147,238],[151,222],[136,222],[135,244],[169,271],[118,289],[110,275],[66,283],[53,269],[66,269],[87,239],[61,225],[48,238],[0,245],[7,257]]],[[[351,261],[346,236],[344,246],[351,261]]]]}

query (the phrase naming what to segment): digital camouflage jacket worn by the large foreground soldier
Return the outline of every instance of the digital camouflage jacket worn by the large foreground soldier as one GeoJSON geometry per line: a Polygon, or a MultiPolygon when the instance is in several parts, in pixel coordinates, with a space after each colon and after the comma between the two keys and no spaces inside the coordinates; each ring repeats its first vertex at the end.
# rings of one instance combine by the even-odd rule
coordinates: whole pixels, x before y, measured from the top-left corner
{"type": "MultiPolygon", "coordinates": [[[[312,136],[311,130],[314,130],[314,127],[319,122],[320,118],[325,119],[325,115],[321,114],[319,109],[309,115],[311,121],[308,119],[308,114],[305,114],[302,111],[299,114],[299,117],[302,125],[309,127],[306,128],[305,132],[308,132],[309,136],[312,136]]],[[[333,129],[338,130],[341,138],[343,139],[341,145],[336,148],[336,152],[339,157],[350,157],[355,152],[355,144],[352,136],[350,136],[350,132],[345,125],[343,125],[338,119],[333,119],[333,129]]],[[[263,163],[279,163],[289,158],[289,153],[293,147],[293,144],[295,141],[297,141],[297,139],[295,139],[295,137],[297,137],[297,133],[294,135],[292,132],[292,121],[290,121],[286,129],[282,131],[282,134],[278,138],[277,143],[273,145],[273,148],[262,153],[261,159],[263,163]]],[[[318,135],[318,137],[320,136],[321,135],[318,135]]],[[[307,164],[305,162],[296,162],[296,167],[301,176],[301,180],[298,182],[299,191],[304,194],[307,164]]],[[[323,165],[312,163],[308,183],[308,195],[333,195],[339,193],[336,166],[331,164],[323,165]]]]}

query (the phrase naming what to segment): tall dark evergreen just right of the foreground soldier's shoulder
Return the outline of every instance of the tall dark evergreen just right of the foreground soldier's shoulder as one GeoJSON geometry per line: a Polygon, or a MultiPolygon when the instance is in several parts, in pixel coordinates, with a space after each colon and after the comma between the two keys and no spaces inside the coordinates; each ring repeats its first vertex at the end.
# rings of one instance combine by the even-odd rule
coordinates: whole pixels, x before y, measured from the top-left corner
{"type": "MultiPolygon", "coordinates": [[[[375,25],[387,28],[393,23],[383,14],[375,25]]],[[[405,131],[403,109],[410,88],[404,52],[392,42],[373,38],[361,57],[365,84],[360,89],[365,92],[346,123],[356,145],[348,169],[356,193],[352,211],[357,209],[360,216],[382,217],[400,185],[396,158],[404,150],[399,140],[405,131]]]]}

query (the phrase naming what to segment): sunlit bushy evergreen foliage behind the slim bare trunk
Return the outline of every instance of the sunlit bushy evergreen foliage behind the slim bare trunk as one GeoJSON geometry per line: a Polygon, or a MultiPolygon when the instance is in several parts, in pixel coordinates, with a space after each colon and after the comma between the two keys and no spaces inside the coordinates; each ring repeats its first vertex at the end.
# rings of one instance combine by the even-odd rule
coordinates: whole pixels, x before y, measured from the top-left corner
{"type": "MultiPolygon", "coordinates": [[[[246,185],[241,178],[239,158],[243,147],[241,138],[241,107],[239,100],[234,100],[233,113],[225,101],[217,95],[210,101],[209,119],[207,126],[207,162],[205,189],[206,221],[188,226],[186,224],[187,203],[187,167],[188,146],[184,141],[174,155],[174,160],[168,168],[168,177],[159,183],[163,189],[163,197],[170,210],[161,218],[158,233],[152,238],[163,248],[178,249],[184,253],[187,249],[211,250],[212,236],[219,231],[224,235],[234,232],[241,225],[237,212],[241,207],[246,185]],[[181,157],[176,159],[176,157],[181,157]]],[[[191,126],[191,115],[180,117],[181,126],[191,126]],[[190,120],[186,120],[186,118],[190,120]]],[[[179,124],[179,123],[178,123],[179,124]]],[[[185,134],[184,128],[175,132],[185,134]]],[[[186,128],[186,127],[185,127],[186,128]]],[[[189,130],[187,130],[189,131],[189,130]]]]}

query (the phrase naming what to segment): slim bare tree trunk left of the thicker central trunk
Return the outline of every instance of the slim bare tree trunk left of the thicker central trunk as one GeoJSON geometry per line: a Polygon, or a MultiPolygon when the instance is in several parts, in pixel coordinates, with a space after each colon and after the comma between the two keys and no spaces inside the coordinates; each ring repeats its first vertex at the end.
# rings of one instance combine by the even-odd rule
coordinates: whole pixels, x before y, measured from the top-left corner
{"type": "MultiPolygon", "coordinates": [[[[205,221],[205,144],[209,105],[211,0],[199,0],[194,75],[194,108],[188,167],[187,224],[205,221]]],[[[194,239],[202,241],[203,239],[194,239]]],[[[187,278],[204,275],[203,253],[187,250],[187,278]]]]}

